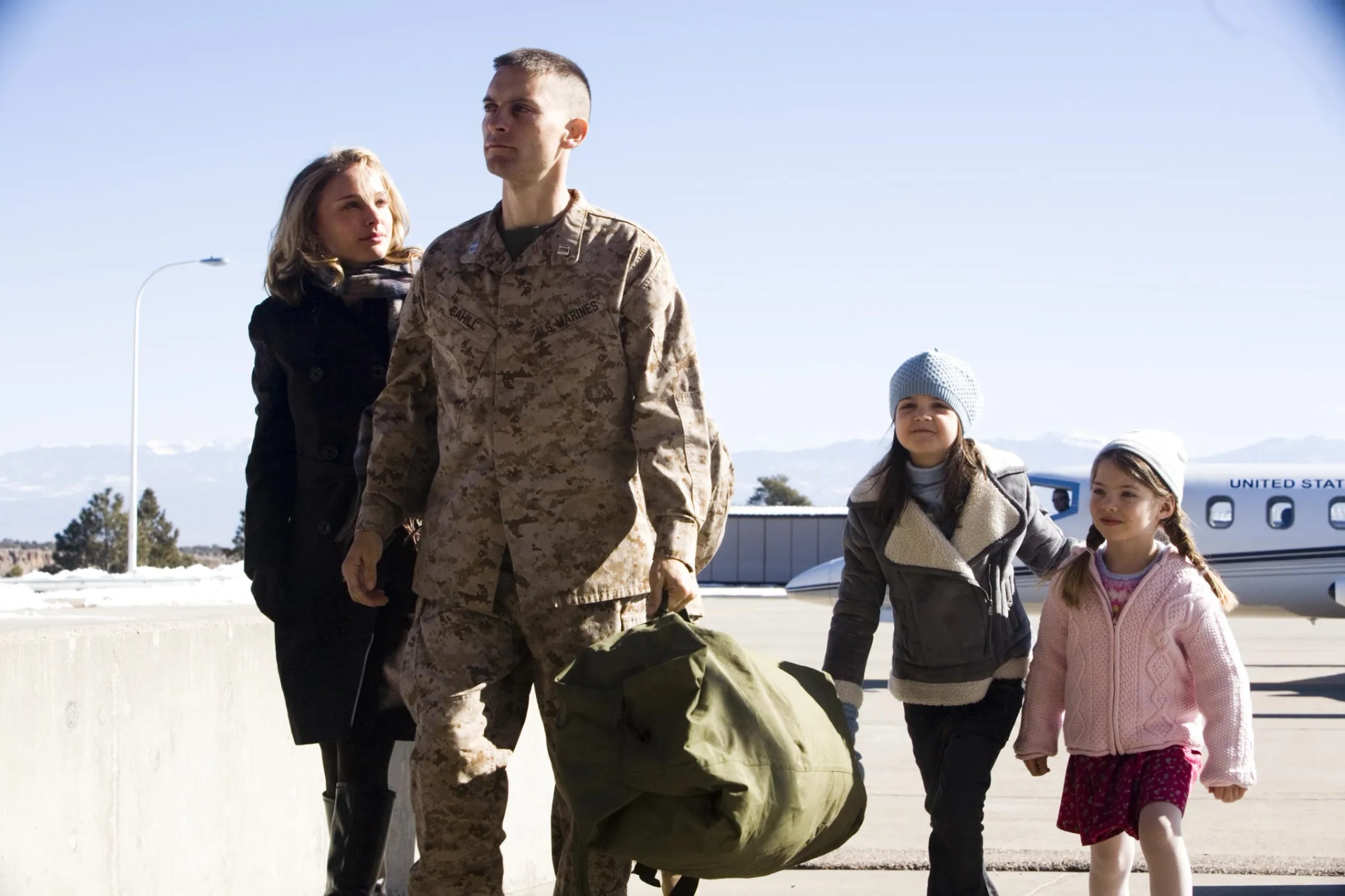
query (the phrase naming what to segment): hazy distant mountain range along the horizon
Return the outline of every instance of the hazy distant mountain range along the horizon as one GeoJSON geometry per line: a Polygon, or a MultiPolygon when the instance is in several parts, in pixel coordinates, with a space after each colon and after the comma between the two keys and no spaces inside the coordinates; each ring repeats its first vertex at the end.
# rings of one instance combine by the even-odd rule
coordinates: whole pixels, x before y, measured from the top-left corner
{"type": "MultiPolygon", "coordinates": [[[[1102,446],[1100,441],[1059,433],[1034,439],[986,441],[1018,454],[1030,469],[1087,465],[1102,446]]],[[[888,439],[851,439],[796,451],[737,451],[733,501],[746,504],[759,477],[785,474],[790,485],[814,504],[841,506],[888,445],[888,439]]],[[[126,490],[129,459],[124,445],[31,447],[0,454],[0,539],[48,541],[94,492],[109,486],[126,490]]],[[[1274,438],[1197,459],[1345,463],[1345,439],[1274,438]]],[[[243,506],[246,461],[246,443],[151,443],[140,449],[140,488],[152,488],[159,496],[168,519],[182,531],[180,544],[229,544],[243,506]]]]}

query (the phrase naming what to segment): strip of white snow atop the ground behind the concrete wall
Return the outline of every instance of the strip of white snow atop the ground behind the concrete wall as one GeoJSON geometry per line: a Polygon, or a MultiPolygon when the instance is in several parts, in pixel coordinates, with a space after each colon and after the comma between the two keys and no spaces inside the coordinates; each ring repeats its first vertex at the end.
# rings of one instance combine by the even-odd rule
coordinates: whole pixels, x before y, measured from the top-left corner
{"type": "Polygon", "coordinates": [[[167,607],[252,603],[242,563],[214,570],[204,566],[160,570],[141,567],[134,575],[102,570],[30,572],[0,580],[0,614],[61,607],[167,607]]]}

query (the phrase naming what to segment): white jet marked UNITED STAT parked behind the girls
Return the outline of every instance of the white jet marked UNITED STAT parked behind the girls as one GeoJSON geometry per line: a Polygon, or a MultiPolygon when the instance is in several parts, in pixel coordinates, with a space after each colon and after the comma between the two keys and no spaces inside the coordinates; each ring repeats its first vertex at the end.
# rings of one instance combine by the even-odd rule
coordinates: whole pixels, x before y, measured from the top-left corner
{"type": "MultiPolygon", "coordinates": [[[[1029,473],[1033,492],[1060,529],[1088,535],[1088,467],[1029,473]]],[[[1345,618],[1345,466],[1192,463],[1182,508],[1196,544],[1237,595],[1240,614],[1345,618]]],[[[830,606],[843,557],[800,572],[791,598],[830,606]]],[[[1041,603],[1046,584],[1017,568],[1018,596],[1041,603]]]]}

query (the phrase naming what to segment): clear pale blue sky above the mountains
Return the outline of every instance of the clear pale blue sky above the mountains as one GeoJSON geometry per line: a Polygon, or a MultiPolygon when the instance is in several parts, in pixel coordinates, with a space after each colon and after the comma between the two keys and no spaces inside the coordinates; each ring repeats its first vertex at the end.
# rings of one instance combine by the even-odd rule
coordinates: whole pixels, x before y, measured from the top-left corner
{"type": "Polygon", "coordinates": [[[250,438],[289,179],[367,145],[413,240],[488,208],[516,46],[594,86],[572,183],[667,246],[730,447],[886,426],[931,347],[981,435],[1345,437],[1345,42],[1306,4],[11,4],[0,451],[250,438]]]}

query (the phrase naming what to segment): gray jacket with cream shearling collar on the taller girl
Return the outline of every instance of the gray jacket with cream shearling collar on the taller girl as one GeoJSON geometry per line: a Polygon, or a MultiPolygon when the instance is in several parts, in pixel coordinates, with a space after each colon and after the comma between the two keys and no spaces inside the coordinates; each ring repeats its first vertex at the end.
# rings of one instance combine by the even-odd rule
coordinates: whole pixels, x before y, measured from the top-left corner
{"type": "Polygon", "coordinates": [[[978,447],[990,476],[974,480],[951,539],[915,500],[880,527],[877,467],[850,494],[845,571],[823,665],[845,703],[863,700],[863,668],[889,591],[888,688],[897,700],[964,705],[985,697],[994,678],[1028,674],[1032,626],[1017,599],[1014,559],[1044,575],[1075,543],[1037,505],[1021,459],[978,447]]]}

